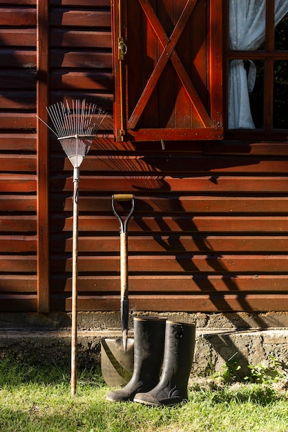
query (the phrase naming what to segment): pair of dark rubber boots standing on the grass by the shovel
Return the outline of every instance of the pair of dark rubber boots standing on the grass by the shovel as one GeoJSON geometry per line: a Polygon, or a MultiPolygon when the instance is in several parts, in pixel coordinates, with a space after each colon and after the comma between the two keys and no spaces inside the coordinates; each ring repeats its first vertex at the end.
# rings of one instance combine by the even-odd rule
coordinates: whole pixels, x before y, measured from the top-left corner
{"type": "Polygon", "coordinates": [[[173,406],[188,398],[187,384],[195,346],[195,325],[157,317],[134,318],[134,369],[113,402],[173,406]]]}

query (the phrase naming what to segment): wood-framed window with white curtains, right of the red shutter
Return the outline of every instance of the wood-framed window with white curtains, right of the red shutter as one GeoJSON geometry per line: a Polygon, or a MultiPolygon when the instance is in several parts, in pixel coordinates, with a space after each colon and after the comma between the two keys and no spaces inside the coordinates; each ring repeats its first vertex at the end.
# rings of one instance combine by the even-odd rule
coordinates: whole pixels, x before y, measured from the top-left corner
{"type": "Polygon", "coordinates": [[[288,1],[227,0],[227,137],[287,139],[288,1]]]}

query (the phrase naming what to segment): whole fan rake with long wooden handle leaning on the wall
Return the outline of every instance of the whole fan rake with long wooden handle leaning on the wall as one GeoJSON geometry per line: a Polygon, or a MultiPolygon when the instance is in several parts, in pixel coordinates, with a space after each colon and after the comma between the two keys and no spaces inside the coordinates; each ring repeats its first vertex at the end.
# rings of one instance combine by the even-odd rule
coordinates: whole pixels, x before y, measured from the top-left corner
{"type": "Polygon", "coordinates": [[[73,100],[48,106],[48,115],[55,128],[50,130],[57,136],[66,156],[73,165],[73,257],[72,257],[72,326],[71,326],[71,395],[75,395],[77,386],[77,255],[78,255],[78,197],[79,168],[84,161],[97,130],[106,113],[95,104],[73,100]]]}

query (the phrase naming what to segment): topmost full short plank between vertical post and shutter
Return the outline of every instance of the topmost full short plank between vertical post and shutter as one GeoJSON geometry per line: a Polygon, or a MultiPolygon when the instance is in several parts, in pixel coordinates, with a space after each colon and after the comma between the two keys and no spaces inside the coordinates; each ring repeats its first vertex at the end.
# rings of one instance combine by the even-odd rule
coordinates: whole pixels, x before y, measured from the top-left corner
{"type": "Polygon", "coordinates": [[[109,10],[50,8],[49,19],[51,27],[111,28],[111,13],[109,10]]]}

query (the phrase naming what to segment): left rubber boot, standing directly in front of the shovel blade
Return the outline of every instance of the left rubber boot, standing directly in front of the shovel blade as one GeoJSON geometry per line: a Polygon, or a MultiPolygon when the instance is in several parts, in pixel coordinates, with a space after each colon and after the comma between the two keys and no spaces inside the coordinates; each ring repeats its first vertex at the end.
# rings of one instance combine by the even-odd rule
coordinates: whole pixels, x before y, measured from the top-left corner
{"type": "Polygon", "coordinates": [[[134,368],[131,380],[123,389],[110,391],[106,399],[113,402],[133,400],[139,391],[150,391],[160,380],[164,357],[165,318],[134,318],[134,368]]]}

